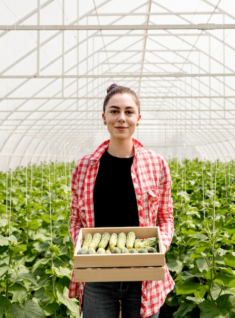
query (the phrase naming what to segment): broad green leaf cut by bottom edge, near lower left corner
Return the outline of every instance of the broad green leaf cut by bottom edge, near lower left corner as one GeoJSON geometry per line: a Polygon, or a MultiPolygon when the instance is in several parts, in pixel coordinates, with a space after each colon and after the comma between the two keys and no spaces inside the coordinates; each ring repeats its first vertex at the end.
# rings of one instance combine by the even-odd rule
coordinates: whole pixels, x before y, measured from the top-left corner
{"type": "Polygon", "coordinates": [[[25,299],[24,304],[13,303],[8,313],[12,318],[45,318],[46,314],[35,298],[25,299]]]}

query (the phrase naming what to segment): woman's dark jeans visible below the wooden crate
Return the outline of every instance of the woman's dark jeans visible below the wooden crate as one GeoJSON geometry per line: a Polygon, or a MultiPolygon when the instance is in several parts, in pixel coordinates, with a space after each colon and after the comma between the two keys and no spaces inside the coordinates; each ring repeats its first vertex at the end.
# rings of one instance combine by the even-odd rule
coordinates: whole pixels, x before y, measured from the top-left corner
{"type": "MultiPolygon", "coordinates": [[[[83,295],[83,318],[139,318],[141,281],[87,282],[83,295]]],[[[149,318],[158,318],[159,312],[149,318]]]]}

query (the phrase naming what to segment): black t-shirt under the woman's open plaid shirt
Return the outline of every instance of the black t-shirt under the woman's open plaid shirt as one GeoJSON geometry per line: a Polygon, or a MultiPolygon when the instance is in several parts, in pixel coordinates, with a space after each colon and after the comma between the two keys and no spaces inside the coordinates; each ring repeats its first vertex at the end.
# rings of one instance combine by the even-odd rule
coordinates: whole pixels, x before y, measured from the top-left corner
{"type": "Polygon", "coordinates": [[[107,151],[100,158],[94,186],[95,227],[138,227],[139,215],[131,178],[133,158],[107,151]]]}

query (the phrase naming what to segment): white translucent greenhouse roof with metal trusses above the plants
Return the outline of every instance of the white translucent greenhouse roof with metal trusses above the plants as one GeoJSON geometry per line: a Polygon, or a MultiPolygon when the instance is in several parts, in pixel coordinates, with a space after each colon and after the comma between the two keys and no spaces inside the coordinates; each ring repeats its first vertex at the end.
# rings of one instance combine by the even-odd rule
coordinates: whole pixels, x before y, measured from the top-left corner
{"type": "Polygon", "coordinates": [[[0,21],[0,170],[109,139],[113,82],[138,94],[146,148],[235,157],[234,0],[0,0],[0,21]]]}

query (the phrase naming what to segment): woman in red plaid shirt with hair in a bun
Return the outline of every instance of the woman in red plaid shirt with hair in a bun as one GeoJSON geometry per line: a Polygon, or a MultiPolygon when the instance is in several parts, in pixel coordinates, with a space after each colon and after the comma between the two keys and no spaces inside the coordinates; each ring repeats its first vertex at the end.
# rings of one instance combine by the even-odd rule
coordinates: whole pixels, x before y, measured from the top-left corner
{"type": "MultiPolygon", "coordinates": [[[[110,140],[77,161],[71,176],[70,234],[75,246],[81,228],[158,226],[164,252],[173,230],[171,177],[164,158],[132,138],[140,102],[128,87],[112,84],[103,104],[110,140]]],[[[75,283],[69,297],[80,297],[83,318],[157,318],[174,281],[165,265],[164,281],[75,283]]]]}

